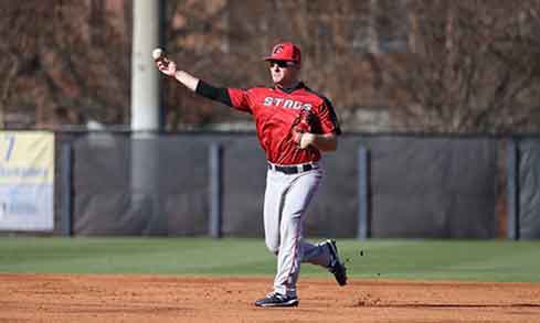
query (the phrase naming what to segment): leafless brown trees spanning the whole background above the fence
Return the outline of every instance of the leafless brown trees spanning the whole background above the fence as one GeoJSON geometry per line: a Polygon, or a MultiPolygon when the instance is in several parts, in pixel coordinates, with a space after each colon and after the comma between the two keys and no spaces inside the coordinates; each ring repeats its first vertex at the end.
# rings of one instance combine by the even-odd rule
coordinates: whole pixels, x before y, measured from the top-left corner
{"type": "MultiPolygon", "coordinates": [[[[346,130],[366,130],[358,116],[370,109],[389,131],[540,130],[538,0],[166,3],[168,54],[218,86],[267,84],[262,56],[298,43],[304,80],[346,130]]],[[[130,10],[125,0],[4,1],[0,123],[25,109],[38,120],[29,126],[44,125],[62,107],[68,122],[128,125],[130,10]]],[[[173,82],[163,89],[168,130],[250,119],[173,82]]]]}

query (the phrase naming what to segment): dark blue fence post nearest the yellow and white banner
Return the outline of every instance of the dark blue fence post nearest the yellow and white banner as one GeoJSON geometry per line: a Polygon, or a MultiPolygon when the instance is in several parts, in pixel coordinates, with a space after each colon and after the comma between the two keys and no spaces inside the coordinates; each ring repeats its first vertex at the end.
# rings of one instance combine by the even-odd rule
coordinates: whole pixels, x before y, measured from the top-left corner
{"type": "Polygon", "coordinates": [[[73,149],[71,142],[62,143],[61,149],[61,192],[62,192],[62,235],[71,237],[73,234],[72,224],[72,180],[73,180],[73,149]]]}

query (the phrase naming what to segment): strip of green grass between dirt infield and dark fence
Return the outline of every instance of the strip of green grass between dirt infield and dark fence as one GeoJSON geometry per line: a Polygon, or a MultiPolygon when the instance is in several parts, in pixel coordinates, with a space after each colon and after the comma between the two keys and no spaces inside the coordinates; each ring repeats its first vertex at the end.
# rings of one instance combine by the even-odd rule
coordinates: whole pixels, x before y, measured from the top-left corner
{"type": "MultiPolygon", "coordinates": [[[[540,281],[540,241],[338,240],[351,278],[540,281]]],[[[273,276],[263,239],[0,238],[0,272],[273,276]]],[[[303,265],[303,277],[327,277],[303,265]]]]}

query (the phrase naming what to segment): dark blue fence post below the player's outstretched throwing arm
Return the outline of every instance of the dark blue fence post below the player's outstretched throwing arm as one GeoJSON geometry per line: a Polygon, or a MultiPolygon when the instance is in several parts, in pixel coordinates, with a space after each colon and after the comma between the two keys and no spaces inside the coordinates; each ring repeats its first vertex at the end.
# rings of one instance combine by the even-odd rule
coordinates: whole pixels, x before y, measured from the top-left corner
{"type": "Polygon", "coordinates": [[[223,197],[223,149],[220,143],[210,146],[210,222],[209,234],[221,238],[222,197],[223,197]]]}

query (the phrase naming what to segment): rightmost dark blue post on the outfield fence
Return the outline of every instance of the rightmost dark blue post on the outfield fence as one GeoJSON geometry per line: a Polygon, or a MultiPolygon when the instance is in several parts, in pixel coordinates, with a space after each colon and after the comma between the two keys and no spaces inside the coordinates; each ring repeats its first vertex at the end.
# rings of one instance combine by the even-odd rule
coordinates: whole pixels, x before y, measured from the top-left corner
{"type": "Polygon", "coordinates": [[[507,140],[507,202],[508,229],[507,237],[519,240],[519,150],[517,139],[507,140]]]}

